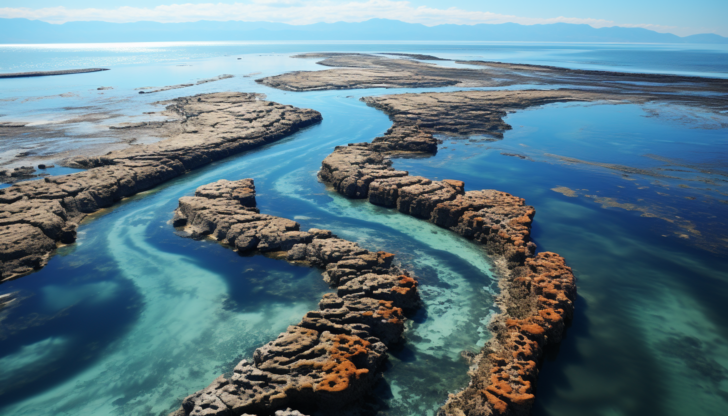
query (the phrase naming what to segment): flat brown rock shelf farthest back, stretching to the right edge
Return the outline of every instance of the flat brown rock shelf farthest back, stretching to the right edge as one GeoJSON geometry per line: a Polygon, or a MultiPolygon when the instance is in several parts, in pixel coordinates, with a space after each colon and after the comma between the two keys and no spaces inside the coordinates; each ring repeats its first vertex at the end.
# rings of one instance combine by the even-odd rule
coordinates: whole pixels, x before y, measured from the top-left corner
{"type": "MultiPolygon", "coordinates": [[[[424,59],[420,55],[391,55],[424,59]]],[[[456,63],[480,68],[451,68],[416,60],[384,58],[363,53],[307,53],[295,55],[294,58],[325,58],[318,63],[335,68],[322,71],[293,71],[256,81],[288,91],[555,85],[584,88],[594,95],[620,94],[617,99],[632,102],[689,103],[719,111],[728,105],[726,98],[728,82],[720,78],[584,71],[555,66],[478,60],[458,60],[456,63]]],[[[432,60],[432,58],[435,57],[427,59],[432,60]]]]}

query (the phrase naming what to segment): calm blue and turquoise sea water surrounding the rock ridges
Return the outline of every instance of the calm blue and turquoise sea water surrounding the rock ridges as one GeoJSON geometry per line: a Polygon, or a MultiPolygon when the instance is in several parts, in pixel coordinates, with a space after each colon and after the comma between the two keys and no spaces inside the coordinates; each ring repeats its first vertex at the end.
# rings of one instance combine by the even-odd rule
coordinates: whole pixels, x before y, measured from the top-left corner
{"type": "MultiPolygon", "coordinates": [[[[19,306],[0,315],[2,415],[165,414],[315,307],[328,290],[317,270],[238,256],[173,234],[167,221],[178,198],[219,178],[256,178],[261,211],[395,252],[418,275],[425,307],[410,321],[408,342],[392,351],[368,404],[371,412],[433,415],[447,393],[467,384],[459,353],[478,350],[489,337],[494,280],[487,256],[427,222],[347,200],[315,176],[333,146],[371,140],[389,127],[384,114],[358,98],[420,90],[284,93],[253,82],[322,68],[315,60],[288,58],[290,53],[396,51],[620,71],[728,72],[728,49],[703,45],[218,43],[0,50],[4,72],[111,68],[0,80],[0,121],[48,127],[89,113],[114,114],[60,124],[57,135],[17,138],[17,146],[4,141],[1,152],[22,149],[52,161],[56,152],[73,152],[87,141],[107,143],[109,124],[159,111],[154,101],[213,91],[266,93],[324,117],[277,144],[215,162],[95,214],[80,228],[78,242],[60,249],[47,267],[1,285],[0,294],[20,297],[19,306]],[[253,72],[261,74],[244,76],[253,72]],[[134,90],[218,74],[236,77],[152,95],[134,90]],[[100,86],[114,90],[96,90],[100,86]]],[[[724,412],[728,116],[672,106],[566,103],[518,111],[507,122],[514,130],[502,141],[446,138],[437,155],[397,159],[395,165],[430,178],[462,179],[468,189],[526,198],[537,208],[539,249],[562,254],[574,267],[577,315],[565,340],[548,353],[535,413],[724,412]]],[[[2,160],[21,164],[12,156],[2,160]]]]}

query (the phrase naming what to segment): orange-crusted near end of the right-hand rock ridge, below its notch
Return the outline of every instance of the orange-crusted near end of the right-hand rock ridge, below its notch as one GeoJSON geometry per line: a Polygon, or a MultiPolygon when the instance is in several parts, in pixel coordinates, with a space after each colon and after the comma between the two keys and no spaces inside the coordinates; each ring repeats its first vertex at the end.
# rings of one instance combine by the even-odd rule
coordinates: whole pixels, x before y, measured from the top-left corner
{"type": "Polygon", "coordinates": [[[561,341],[577,288],[571,268],[555,253],[510,266],[502,270],[496,298],[502,312],[489,325],[494,337],[472,359],[470,385],[448,397],[440,416],[531,413],[543,348],[561,341]]]}

